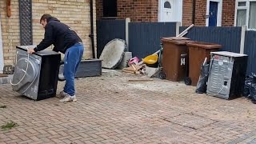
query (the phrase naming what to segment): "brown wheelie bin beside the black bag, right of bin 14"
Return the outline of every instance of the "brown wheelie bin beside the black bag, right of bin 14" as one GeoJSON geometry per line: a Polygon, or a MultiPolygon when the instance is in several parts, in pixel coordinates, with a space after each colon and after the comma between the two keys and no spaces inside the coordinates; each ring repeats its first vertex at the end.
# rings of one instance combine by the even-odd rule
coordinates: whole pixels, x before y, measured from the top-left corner
{"type": "Polygon", "coordinates": [[[189,49],[189,78],[191,85],[197,86],[201,65],[207,58],[210,61],[210,52],[217,51],[222,46],[215,43],[193,42],[187,43],[189,49]]]}

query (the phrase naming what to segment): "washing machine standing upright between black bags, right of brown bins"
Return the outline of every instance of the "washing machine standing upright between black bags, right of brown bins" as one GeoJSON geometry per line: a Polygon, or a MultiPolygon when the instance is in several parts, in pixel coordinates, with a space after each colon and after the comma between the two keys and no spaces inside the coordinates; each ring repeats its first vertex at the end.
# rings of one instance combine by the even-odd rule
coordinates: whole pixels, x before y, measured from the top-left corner
{"type": "Polygon", "coordinates": [[[248,55],[229,51],[210,53],[207,94],[225,99],[242,96],[248,55]]]}

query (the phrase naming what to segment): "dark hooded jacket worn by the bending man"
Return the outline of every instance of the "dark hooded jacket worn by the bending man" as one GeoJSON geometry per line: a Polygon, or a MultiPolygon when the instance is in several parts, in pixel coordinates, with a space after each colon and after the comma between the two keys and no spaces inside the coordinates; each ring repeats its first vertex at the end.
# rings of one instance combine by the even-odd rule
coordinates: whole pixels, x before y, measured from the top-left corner
{"type": "Polygon", "coordinates": [[[57,18],[50,17],[46,19],[45,36],[34,51],[44,50],[50,45],[54,45],[54,51],[65,54],[66,50],[75,43],[82,42],[78,34],[71,30],[70,26],[60,22],[57,18]]]}

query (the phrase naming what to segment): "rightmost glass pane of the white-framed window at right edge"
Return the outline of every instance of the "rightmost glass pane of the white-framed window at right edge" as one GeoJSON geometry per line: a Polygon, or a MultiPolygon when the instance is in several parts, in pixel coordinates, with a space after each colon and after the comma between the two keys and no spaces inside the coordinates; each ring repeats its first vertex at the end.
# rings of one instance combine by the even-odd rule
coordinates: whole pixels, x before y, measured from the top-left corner
{"type": "Polygon", "coordinates": [[[256,2],[250,2],[249,29],[256,29],[256,2]]]}

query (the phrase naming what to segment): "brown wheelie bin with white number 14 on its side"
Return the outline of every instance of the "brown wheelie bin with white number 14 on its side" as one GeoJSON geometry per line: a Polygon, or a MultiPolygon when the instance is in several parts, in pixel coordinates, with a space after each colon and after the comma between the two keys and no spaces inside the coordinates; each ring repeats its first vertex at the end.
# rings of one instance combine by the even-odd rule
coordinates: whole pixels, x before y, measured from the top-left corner
{"type": "Polygon", "coordinates": [[[188,50],[186,43],[190,38],[170,37],[162,38],[162,70],[166,79],[177,82],[186,77],[188,50]]]}

